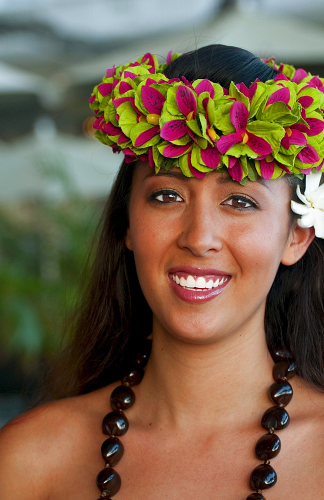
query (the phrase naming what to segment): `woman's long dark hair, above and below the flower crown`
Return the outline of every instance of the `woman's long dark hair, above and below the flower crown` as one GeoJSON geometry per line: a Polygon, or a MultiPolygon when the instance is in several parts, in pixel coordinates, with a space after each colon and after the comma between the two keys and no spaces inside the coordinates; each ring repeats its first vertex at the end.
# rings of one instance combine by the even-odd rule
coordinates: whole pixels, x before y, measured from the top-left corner
{"type": "MultiPolygon", "coordinates": [[[[208,78],[224,87],[231,80],[248,85],[277,74],[254,54],[225,45],[183,54],[164,73],[169,78],[208,78]]],[[[122,163],[104,208],[83,298],[71,321],[72,336],[61,351],[50,390],[52,397],[88,392],[117,380],[151,332],[151,310],[138,283],[133,254],[124,245],[133,167],[134,163],[122,163]]],[[[295,191],[298,179],[286,177],[295,191]]],[[[296,359],[296,372],[318,389],[324,388],[323,248],[323,241],[315,238],[294,265],[280,264],[265,312],[270,352],[288,348],[296,359]]]]}

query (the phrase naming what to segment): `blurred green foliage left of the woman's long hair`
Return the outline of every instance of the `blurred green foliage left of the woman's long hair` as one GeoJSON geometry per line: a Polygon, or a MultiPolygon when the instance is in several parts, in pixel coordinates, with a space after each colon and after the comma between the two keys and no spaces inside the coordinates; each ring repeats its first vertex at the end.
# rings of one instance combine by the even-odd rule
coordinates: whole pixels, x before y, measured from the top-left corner
{"type": "Polygon", "coordinates": [[[57,349],[103,200],[80,196],[61,159],[39,160],[63,200],[0,205],[0,352],[27,371],[57,349]]]}

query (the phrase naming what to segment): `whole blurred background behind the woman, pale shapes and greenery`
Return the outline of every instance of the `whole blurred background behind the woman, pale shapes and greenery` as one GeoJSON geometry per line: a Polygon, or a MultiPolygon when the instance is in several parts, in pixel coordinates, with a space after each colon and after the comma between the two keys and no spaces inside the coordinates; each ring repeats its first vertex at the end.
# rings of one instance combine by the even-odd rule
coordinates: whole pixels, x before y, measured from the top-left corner
{"type": "Polygon", "coordinates": [[[0,426],[39,391],[121,162],[93,139],[93,86],[210,43],[323,76],[324,3],[0,0],[0,426]]]}

